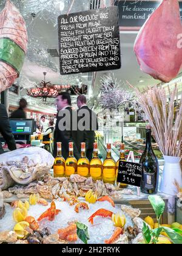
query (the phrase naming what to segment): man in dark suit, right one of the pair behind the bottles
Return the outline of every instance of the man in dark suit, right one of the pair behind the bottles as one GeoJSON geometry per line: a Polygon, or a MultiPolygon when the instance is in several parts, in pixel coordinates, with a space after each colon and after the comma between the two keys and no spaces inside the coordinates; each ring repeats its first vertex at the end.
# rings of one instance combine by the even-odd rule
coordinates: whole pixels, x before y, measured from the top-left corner
{"type": "Polygon", "coordinates": [[[89,123],[89,129],[85,130],[87,135],[85,135],[83,131],[78,130],[77,140],[78,140],[78,143],[86,142],[86,148],[87,148],[86,155],[89,160],[92,160],[93,143],[95,142],[95,130],[98,130],[98,120],[96,118],[96,114],[87,106],[86,96],[79,95],[77,98],[77,105],[79,108],[78,121],[79,119],[84,117],[81,113],[81,110],[88,110],[88,113],[89,113],[89,116],[86,116],[88,118],[88,123],[89,123]],[[95,129],[93,129],[93,127],[95,127],[95,129]]]}

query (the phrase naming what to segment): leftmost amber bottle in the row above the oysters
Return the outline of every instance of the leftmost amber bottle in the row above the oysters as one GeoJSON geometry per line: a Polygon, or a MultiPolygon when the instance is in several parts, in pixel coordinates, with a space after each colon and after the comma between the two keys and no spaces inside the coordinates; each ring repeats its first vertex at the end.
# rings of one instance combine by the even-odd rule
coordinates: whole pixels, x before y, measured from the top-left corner
{"type": "Polygon", "coordinates": [[[61,142],[57,143],[57,156],[53,165],[54,177],[63,177],[65,171],[65,159],[62,157],[61,142]]]}

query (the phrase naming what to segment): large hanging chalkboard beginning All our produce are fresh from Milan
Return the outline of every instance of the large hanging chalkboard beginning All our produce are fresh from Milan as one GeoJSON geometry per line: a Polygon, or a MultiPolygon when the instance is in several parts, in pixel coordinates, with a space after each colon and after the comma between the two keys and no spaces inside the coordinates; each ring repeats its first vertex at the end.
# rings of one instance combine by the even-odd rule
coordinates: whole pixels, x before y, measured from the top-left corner
{"type": "Polygon", "coordinates": [[[58,17],[61,75],[121,68],[118,7],[58,17]]]}

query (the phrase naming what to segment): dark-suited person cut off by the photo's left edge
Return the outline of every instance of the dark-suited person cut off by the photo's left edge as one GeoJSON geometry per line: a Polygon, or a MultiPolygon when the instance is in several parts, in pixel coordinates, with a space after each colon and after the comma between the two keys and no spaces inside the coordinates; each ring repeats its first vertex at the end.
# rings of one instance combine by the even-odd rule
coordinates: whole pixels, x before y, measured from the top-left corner
{"type": "MultiPolygon", "coordinates": [[[[5,106],[0,104],[0,133],[11,151],[16,149],[15,139],[12,134],[8,114],[5,106]]],[[[4,153],[0,142],[0,154],[4,153]]]]}

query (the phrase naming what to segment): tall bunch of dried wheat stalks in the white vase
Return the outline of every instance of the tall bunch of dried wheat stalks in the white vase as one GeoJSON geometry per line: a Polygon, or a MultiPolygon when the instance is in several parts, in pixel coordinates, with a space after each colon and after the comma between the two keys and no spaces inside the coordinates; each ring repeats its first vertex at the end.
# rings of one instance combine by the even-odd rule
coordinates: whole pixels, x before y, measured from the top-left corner
{"type": "MultiPolygon", "coordinates": [[[[132,87],[132,85],[130,86],[132,87]]],[[[146,121],[152,127],[153,137],[157,141],[161,152],[164,155],[181,157],[182,97],[178,111],[176,114],[174,113],[174,101],[178,99],[177,85],[175,85],[174,90],[170,90],[169,87],[167,89],[169,102],[167,101],[166,90],[163,87],[155,86],[144,92],[140,92],[137,88],[134,89],[138,103],[143,108],[146,121]]]]}

